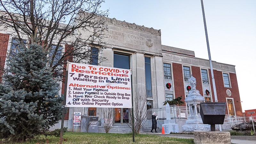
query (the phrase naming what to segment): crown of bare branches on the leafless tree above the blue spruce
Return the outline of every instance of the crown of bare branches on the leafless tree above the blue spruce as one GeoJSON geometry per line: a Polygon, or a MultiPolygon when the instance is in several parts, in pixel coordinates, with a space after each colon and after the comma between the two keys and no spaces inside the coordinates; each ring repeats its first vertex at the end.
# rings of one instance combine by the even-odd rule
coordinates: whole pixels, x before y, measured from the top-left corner
{"type": "MultiPolygon", "coordinates": [[[[0,0],[0,2],[0,29],[11,28],[11,36],[19,41],[24,37],[31,39],[36,36],[41,37],[40,44],[45,51],[52,52],[49,66],[60,80],[68,59],[77,63],[91,64],[91,47],[97,48],[98,53],[104,49],[102,32],[107,28],[103,17],[108,14],[108,10],[99,10],[104,0],[0,0]],[[54,49],[52,45],[56,45],[54,49]],[[60,48],[63,50],[60,51],[60,48]]],[[[98,56],[98,64],[104,60],[106,59],[98,56]]]]}

